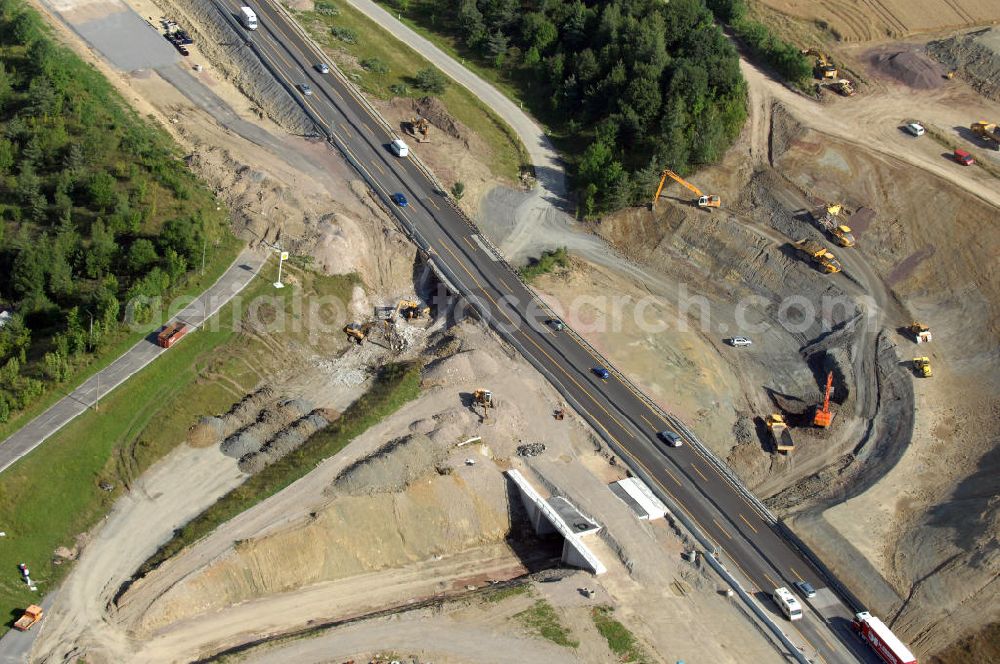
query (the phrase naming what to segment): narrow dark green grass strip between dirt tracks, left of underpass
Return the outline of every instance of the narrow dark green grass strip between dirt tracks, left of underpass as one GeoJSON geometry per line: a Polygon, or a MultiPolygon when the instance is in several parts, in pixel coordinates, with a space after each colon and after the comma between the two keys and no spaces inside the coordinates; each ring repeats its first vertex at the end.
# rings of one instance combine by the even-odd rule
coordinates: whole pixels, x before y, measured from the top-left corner
{"type": "Polygon", "coordinates": [[[388,417],[420,393],[420,365],[390,364],[371,389],[351,404],[330,426],[313,434],[298,449],[236,487],[211,507],[175,531],[174,536],[136,572],[143,576],[165,560],[209,534],[220,524],[304,477],[323,459],[342,450],[369,427],[388,417]]]}

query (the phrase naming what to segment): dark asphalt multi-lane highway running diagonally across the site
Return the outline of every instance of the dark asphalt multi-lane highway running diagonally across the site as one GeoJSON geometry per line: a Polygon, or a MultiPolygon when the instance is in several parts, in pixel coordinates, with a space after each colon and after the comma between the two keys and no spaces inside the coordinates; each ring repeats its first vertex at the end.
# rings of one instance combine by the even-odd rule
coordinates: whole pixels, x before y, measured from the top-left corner
{"type": "MultiPolygon", "coordinates": [[[[234,26],[240,4],[215,0],[234,26]]],[[[621,454],[641,468],[673,504],[685,511],[715,542],[719,559],[736,567],[761,600],[776,586],[792,587],[798,580],[821,589],[812,603],[823,619],[785,622],[796,643],[807,643],[822,661],[878,661],[847,624],[850,609],[826,588],[827,582],[805,557],[784,539],[695,446],[663,449],[659,431],[671,429],[660,412],[614,371],[601,380],[592,371],[603,365],[588,346],[569,331],[557,332],[546,323],[551,314],[518,279],[490,245],[411,159],[399,159],[388,149],[395,138],[334,72],[316,69],[327,59],[271,2],[259,2],[260,27],[242,30],[244,38],[322,125],[331,142],[353,162],[373,186],[376,196],[397,215],[427,258],[447,277],[488,323],[553,383],[567,401],[621,454]],[[304,95],[299,86],[313,91],[304,95]],[[409,201],[392,203],[394,193],[409,201]]],[[[610,367],[609,367],[610,368],[610,367]]],[[[808,612],[807,612],[808,613],[808,612]]]]}

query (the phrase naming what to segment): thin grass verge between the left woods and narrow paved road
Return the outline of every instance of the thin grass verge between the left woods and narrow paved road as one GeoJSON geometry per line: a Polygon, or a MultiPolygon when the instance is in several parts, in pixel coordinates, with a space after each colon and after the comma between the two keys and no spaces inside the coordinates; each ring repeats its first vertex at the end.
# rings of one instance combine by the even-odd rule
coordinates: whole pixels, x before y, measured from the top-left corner
{"type": "MultiPolygon", "coordinates": [[[[167,301],[184,297],[197,296],[202,291],[211,286],[222,276],[222,273],[232,264],[233,260],[243,248],[243,241],[234,235],[226,234],[219,243],[218,248],[205,263],[205,272],[191,273],[183,286],[171,292],[167,301]]],[[[163,309],[154,312],[151,320],[158,321],[162,318],[163,309]]],[[[174,312],[170,312],[174,313],[174,312]]],[[[32,419],[40,415],[49,406],[62,399],[64,396],[82,385],[88,378],[104,369],[114,362],[118,357],[134,346],[138,341],[148,336],[158,324],[150,323],[147,327],[139,331],[122,330],[114,341],[87,356],[88,363],[74,372],[73,376],[59,385],[53,386],[43,396],[31,403],[24,410],[18,411],[15,417],[0,424],[0,441],[4,440],[15,431],[23,427],[32,419]]]]}

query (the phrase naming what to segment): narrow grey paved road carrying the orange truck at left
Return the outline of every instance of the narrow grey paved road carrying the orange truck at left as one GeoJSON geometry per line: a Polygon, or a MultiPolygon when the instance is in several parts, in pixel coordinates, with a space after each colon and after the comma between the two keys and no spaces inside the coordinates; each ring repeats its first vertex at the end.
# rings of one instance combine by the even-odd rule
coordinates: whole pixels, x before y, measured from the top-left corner
{"type": "MultiPolygon", "coordinates": [[[[200,326],[250,283],[264,264],[266,257],[259,252],[244,250],[218,281],[168,322],[181,320],[194,327],[200,326]]],[[[184,343],[183,339],[178,343],[184,343]]],[[[156,333],[150,334],[110,365],[88,378],[78,388],[52,404],[48,410],[0,443],[0,472],[41,445],[46,438],[66,426],[74,417],[92,408],[104,395],[165,352],[166,349],[156,345],[156,333]]]]}

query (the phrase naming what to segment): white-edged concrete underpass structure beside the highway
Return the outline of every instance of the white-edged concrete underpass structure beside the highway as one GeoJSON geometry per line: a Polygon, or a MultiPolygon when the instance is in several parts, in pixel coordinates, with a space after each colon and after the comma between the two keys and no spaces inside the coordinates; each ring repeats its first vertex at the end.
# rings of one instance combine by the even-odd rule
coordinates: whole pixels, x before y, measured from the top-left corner
{"type": "Polygon", "coordinates": [[[519,470],[508,470],[505,474],[517,486],[524,509],[528,512],[528,521],[531,522],[535,533],[562,535],[562,561],[565,564],[594,574],[604,574],[608,571],[583,541],[583,536],[598,532],[601,526],[584,516],[561,496],[549,500],[542,498],[519,470]]]}

